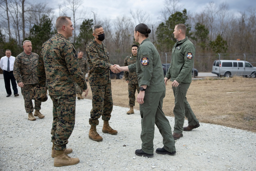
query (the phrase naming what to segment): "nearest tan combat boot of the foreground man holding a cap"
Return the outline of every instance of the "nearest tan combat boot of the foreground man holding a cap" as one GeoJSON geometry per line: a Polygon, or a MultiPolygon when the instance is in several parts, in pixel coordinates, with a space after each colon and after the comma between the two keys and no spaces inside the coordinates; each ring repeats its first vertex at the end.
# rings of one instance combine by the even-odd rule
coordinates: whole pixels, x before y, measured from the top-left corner
{"type": "Polygon", "coordinates": [[[65,150],[56,150],[54,157],[54,166],[70,166],[79,163],[79,158],[71,158],[65,154],[65,150]]]}

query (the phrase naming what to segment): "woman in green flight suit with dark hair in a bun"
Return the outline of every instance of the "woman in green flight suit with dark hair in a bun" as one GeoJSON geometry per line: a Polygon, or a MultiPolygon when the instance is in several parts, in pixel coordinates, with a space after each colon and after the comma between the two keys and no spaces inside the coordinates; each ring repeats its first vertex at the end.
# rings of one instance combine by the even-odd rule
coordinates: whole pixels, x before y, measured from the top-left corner
{"type": "Polygon", "coordinates": [[[163,136],[163,148],[157,148],[156,153],[174,155],[175,141],[168,119],[162,110],[165,97],[165,83],[162,63],[157,49],[150,42],[148,34],[151,29],[146,24],[138,24],[134,30],[135,42],[138,42],[136,63],[120,67],[121,71],[135,72],[138,76],[140,93],[137,102],[140,104],[142,148],[135,154],[153,157],[155,124],[163,136]]]}

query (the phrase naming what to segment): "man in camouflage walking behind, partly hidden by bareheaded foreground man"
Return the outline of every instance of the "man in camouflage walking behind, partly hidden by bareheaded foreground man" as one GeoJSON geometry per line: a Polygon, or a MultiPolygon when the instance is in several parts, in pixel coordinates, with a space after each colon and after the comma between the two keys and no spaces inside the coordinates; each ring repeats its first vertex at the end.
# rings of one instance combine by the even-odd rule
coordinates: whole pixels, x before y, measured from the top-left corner
{"type": "MultiPolygon", "coordinates": [[[[83,51],[78,52],[78,60],[77,61],[78,61],[78,64],[79,64],[81,71],[83,72],[84,78],[85,78],[85,75],[88,73],[89,68],[88,68],[87,59],[83,57],[83,51]]],[[[76,92],[77,92],[78,100],[83,99],[83,97],[82,97],[83,92],[82,92],[81,87],[79,87],[79,85],[76,82],[75,82],[75,85],[76,85],[76,92]]]]}

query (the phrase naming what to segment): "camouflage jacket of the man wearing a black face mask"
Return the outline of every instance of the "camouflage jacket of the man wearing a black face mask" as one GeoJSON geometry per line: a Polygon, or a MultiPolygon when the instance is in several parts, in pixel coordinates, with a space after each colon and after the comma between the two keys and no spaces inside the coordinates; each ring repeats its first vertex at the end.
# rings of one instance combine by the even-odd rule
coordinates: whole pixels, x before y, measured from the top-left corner
{"type": "Polygon", "coordinates": [[[104,85],[110,81],[110,61],[104,43],[98,44],[95,39],[86,48],[87,60],[89,64],[90,85],[104,85]]]}

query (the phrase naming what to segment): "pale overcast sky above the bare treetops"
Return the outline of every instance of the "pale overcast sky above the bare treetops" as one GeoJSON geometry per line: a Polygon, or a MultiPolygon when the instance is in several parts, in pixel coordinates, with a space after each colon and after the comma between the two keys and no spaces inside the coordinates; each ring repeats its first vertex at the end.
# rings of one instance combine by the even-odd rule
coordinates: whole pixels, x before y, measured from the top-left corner
{"type": "MultiPolygon", "coordinates": [[[[33,0],[28,0],[33,2],[33,0]]],[[[39,0],[41,2],[46,2],[49,7],[53,8],[55,15],[59,16],[59,6],[58,4],[63,4],[64,0],[39,0]],[[53,3],[54,2],[54,3],[53,3]]],[[[78,9],[79,11],[87,11],[89,16],[85,18],[92,18],[93,12],[95,12],[100,18],[110,18],[115,19],[117,16],[128,16],[131,17],[130,10],[142,9],[146,11],[150,16],[148,20],[150,22],[160,22],[158,17],[161,15],[160,11],[164,8],[164,0],[84,0],[83,4],[78,9]]],[[[239,16],[239,12],[246,11],[249,7],[256,7],[255,0],[180,0],[179,5],[182,6],[181,11],[186,8],[190,14],[202,12],[209,2],[214,2],[219,5],[221,3],[227,3],[229,10],[234,13],[234,15],[239,16]]],[[[71,15],[71,13],[70,13],[71,15]]]]}

